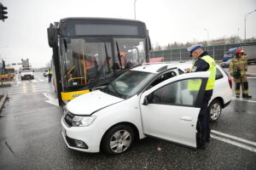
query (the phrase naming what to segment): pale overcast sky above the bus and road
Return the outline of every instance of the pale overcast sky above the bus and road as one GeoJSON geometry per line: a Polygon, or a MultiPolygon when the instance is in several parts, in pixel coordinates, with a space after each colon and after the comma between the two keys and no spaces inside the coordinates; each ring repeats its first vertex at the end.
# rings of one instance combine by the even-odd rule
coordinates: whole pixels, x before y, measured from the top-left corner
{"type": "MultiPolygon", "coordinates": [[[[134,19],[134,0],[0,0],[8,19],[0,21],[0,56],[6,63],[30,59],[43,67],[52,54],[47,28],[67,17],[134,19]]],[[[136,18],[146,23],[151,42],[193,42],[244,38],[245,14],[256,0],[137,0],[136,18]],[[207,31],[205,31],[207,29],[207,31]]],[[[256,12],[247,15],[247,38],[256,37],[256,12]]]]}

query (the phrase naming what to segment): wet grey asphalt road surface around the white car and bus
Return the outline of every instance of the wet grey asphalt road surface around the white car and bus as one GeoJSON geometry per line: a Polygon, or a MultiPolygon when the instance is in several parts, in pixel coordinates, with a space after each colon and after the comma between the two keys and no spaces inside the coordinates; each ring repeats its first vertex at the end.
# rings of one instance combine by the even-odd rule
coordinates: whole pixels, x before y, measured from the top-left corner
{"type": "Polygon", "coordinates": [[[12,88],[4,89],[8,91],[9,99],[0,118],[1,170],[256,169],[255,78],[248,79],[253,99],[233,99],[218,122],[212,123],[212,130],[235,138],[212,133],[218,139],[212,138],[207,150],[194,150],[147,138],[133,144],[131,150],[123,155],[108,156],[67,148],[61,136],[61,108],[46,102],[49,99],[45,96],[54,96],[55,93],[42,75],[35,73],[35,80],[19,80],[12,88]],[[228,142],[221,139],[228,139],[228,142]],[[158,147],[162,150],[158,151],[158,147]]]}

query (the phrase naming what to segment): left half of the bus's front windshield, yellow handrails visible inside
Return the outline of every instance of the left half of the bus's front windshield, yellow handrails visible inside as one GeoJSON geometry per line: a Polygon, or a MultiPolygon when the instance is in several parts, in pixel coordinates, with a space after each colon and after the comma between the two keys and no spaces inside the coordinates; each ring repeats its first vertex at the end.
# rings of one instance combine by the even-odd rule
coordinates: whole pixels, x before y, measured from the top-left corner
{"type": "Polygon", "coordinates": [[[61,47],[62,82],[66,87],[81,86],[113,75],[110,41],[101,38],[65,38],[61,47]],[[65,44],[64,42],[67,42],[65,44]]]}

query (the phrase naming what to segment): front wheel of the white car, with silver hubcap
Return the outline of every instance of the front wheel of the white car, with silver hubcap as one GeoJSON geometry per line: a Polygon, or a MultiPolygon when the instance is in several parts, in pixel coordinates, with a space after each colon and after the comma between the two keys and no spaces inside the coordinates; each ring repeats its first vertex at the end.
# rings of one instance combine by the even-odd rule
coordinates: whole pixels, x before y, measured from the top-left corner
{"type": "Polygon", "coordinates": [[[119,124],[112,127],[102,139],[102,150],[110,155],[119,155],[129,150],[134,141],[132,127],[119,124]]]}

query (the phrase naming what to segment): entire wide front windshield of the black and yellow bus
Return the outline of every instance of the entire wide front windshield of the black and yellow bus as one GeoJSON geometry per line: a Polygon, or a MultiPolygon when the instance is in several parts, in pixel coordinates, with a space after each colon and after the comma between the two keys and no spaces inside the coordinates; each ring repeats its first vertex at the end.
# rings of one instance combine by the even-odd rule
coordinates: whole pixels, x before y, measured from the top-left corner
{"type": "Polygon", "coordinates": [[[146,62],[145,44],[145,38],[62,37],[62,86],[84,86],[146,62]]]}

